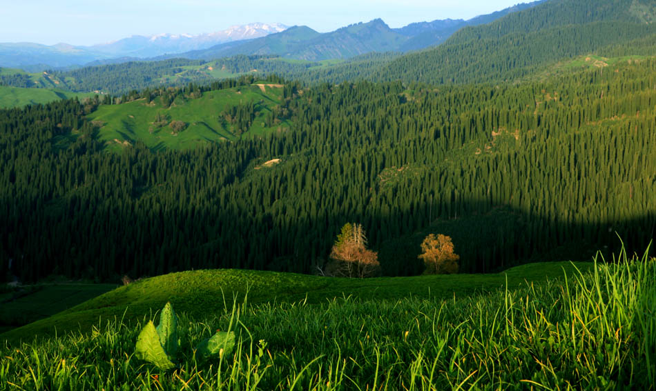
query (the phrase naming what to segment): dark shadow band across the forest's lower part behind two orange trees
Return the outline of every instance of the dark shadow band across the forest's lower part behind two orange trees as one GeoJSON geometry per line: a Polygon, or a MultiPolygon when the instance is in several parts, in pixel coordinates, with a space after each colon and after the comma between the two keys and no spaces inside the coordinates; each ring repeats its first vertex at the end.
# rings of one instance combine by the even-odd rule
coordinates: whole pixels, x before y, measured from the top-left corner
{"type": "MultiPolygon", "coordinates": [[[[168,188],[162,186],[139,194],[139,201],[164,197],[168,188]]],[[[148,204],[151,208],[133,210],[106,201],[86,205],[75,196],[59,200],[61,208],[47,213],[45,204],[0,200],[0,220],[5,221],[1,275],[32,281],[52,273],[113,280],[123,274],[134,278],[199,268],[312,273],[349,221],[363,223],[385,275],[420,274],[419,244],[429,233],[452,237],[461,272],[483,273],[530,261],[590,260],[597,250],[608,259],[621,248],[617,235],[628,252],[642,253],[656,225],[656,212],[621,221],[570,223],[561,216],[490,206],[489,201],[469,201],[459,208],[414,205],[387,216],[318,211],[312,219],[291,223],[284,212],[273,216],[273,207],[267,214],[253,214],[239,203],[219,208],[207,201],[199,207],[164,197],[148,204]]]]}

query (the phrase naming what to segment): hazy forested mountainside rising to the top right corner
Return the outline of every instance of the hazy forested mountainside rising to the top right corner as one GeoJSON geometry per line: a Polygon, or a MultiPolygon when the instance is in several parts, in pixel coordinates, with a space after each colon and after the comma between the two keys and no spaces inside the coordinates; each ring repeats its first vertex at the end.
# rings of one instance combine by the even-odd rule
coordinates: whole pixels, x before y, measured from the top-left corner
{"type": "Polygon", "coordinates": [[[408,54],[374,79],[474,83],[525,77],[583,54],[644,52],[635,44],[656,32],[646,0],[552,0],[483,26],[463,28],[438,48],[408,54]]]}

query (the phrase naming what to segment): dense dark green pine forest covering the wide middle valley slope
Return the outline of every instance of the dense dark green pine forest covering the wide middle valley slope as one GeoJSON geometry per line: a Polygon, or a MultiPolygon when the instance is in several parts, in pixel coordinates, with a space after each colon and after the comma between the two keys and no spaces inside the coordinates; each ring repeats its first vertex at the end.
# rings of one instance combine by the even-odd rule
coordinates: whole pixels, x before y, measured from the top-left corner
{"type": "Polygon", "coordinates": [[[653,238],[653,59],[515,85],[276,81],[289,130],[182,152],[106,150],[86,115],[115,99],[1,111],[3,276],[307,273],[349,221],[387,275],[422,272],[427,232],[453,238],[461,272],[653,238]]]}

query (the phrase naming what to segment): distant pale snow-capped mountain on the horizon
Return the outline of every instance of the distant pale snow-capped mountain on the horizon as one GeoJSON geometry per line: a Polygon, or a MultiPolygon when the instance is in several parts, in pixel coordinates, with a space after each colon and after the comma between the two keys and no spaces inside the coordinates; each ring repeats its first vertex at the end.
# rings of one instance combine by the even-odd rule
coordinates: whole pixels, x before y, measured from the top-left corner
{"type": "Polygon", "coordinates": [[[88,49],[111,54],[114,57],[156,57],[162,54],[202,50],[219,43],[260,38],[284,30],[287,30],[287,26],[280,23],[252,23],[231,26],[226,30],[206,34],[133,35],[119,41],[90,46],[88,49]]]}

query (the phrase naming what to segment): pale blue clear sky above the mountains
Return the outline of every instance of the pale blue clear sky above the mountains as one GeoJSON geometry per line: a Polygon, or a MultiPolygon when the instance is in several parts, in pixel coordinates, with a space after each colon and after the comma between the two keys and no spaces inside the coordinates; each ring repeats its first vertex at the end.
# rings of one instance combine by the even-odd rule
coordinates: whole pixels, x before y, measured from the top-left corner
{"type": "Polygon", "coordinates": [[[470,19],[530,0],[1,0],[0,42],[93,45],[131,35],[200,34],[254,22],[319,32],[381,18],[470,19]]]}

